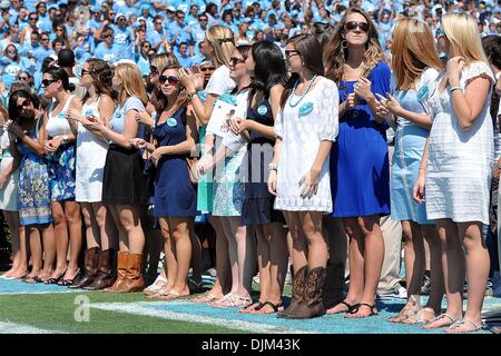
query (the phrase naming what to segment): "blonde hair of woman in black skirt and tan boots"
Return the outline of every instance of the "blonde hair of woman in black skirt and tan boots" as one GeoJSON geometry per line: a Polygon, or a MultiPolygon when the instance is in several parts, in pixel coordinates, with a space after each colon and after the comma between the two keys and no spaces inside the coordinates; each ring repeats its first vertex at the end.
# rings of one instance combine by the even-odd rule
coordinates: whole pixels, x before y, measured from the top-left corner
{"type": "Polygon", "coordinates": [[[120,63],[115,68],[115,75],[121,79],[121,89],[118,93],[118,101],[121,105],[130,97],[139,98],[145,106],[148,103],[141,72],[135,65],[120,63]]]}

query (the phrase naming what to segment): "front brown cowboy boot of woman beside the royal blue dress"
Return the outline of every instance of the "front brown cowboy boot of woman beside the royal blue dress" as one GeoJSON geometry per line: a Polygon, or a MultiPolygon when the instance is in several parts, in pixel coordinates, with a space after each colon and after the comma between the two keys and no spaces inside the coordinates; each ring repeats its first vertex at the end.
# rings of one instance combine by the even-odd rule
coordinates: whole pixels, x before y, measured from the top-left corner
{"type": "Polygon", "coordinates": [[[288,319],[311,319],[325,314],[322,303],[322,288],[325,281],[325,268],[315,267],[308,270],[303,294],[303,303],[289,313],[288,319]]]}

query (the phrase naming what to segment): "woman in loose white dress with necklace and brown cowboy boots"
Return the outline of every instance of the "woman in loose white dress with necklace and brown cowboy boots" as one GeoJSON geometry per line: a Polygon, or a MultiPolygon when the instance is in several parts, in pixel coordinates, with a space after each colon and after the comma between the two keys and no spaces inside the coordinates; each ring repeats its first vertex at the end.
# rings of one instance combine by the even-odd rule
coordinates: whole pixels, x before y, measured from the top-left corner
{"type": "Polygon", "coordinates": [[[287,41],[293,76],[275,122],[275,155],[268,189],[276,195],[293,238],[293,301],[279,317],[323,315],[322,286],[327,265],[323,215],[332,212],[328,157],[337,136],[337,86],[323,77],[322,47],[312,34],[287,41]]]}

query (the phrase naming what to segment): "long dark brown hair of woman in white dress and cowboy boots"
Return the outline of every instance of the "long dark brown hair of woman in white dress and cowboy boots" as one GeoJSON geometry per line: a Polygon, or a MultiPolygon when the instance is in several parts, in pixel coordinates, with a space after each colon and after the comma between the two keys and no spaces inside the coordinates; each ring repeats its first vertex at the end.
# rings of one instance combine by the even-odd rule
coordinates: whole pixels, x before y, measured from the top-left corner
{"type": "MultiPolygon", "coordinates": [[[[294,44],[294,48],[299,53],[303,60],[303,66],[306,69],[311,70],[314,75],[317,76],[324,75],[324,61],[322,59],[323,49],[322,44],[318,42],[315,36],[304,33],[296,34],[287,40],[287,44],[289,43],[294,44]]],[[[281,98],[282,108],[294,90],[294,86],[297,80],[299,80],[298,73],[293,73],[288,79],[281,98]]]]}

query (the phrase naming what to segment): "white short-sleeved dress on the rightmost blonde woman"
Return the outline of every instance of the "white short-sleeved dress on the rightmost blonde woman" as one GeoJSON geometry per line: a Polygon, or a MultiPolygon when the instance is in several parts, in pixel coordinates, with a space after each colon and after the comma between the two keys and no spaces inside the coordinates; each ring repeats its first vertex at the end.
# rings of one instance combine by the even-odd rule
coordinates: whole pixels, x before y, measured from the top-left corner
{"type": "MultiPolygon", "coordinates": [[[[436,82],[444,76],[442,72],[436,82]]],[[[490,67],[481,61],[463,68],[461,88],[479,77],[494,83],[490,67]]],[[[430,219],[489,224],[489,199],[494,158],[491,92],[469,130],[462,130],[452,108],[451,88],[439,85],[430,98],[433,125],[430,131],[425,180],[426,214],[430,219]]],[[[492,88],[491,88],[492,90],[492,88]]]]}

